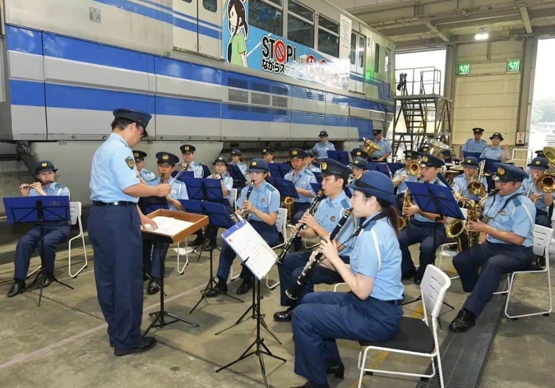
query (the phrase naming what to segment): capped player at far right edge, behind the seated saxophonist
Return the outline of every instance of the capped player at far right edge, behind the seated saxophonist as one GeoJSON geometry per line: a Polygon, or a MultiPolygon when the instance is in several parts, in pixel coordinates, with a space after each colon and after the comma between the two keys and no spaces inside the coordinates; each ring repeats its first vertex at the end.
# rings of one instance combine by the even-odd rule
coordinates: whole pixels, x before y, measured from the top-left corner
{"type": "Polygon", "coordinates": [[[553,191],[546,192],[538,188],[538,182],[546,175],[546,170],[549,169],[549,162],[543,157],[534,157],[528,167],[530,168],[530,175],[522,182],[522,191],[536,206],[536,223],[551,228],[548,211],[549,207],[553,205],[553,191]]]}

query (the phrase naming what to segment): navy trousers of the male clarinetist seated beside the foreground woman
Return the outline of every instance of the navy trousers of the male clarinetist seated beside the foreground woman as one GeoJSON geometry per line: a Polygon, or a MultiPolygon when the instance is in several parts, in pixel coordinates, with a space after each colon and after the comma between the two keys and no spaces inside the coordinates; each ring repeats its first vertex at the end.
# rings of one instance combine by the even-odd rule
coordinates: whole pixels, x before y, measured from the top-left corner
{"type": "MultiPolygon", "coordinates": [[[[290,299],[285,294],[285,290],[292,287],[297,282],[305,264],[309,261],[312,251],[293,252],[287,254],[284,263],[278,265],[279,281],[280,281],[280,302],[282,306],[295,307],[306,294],[314,292],[315,284],[335,284],[343,281],[341,275],[336,271],[319,266],[316,264],[312,270],[310,277],[307,279],[305,288],[302,289],[299,298],[290,299]]],[[[349,264],[349,257],[342,256],[341,259],[349,264]]]]}

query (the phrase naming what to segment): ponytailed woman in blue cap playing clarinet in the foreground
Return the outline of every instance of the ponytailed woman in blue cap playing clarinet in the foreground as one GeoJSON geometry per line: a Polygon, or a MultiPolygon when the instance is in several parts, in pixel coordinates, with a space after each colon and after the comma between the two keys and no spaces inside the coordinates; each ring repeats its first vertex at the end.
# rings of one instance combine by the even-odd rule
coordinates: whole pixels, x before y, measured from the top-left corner
{"type": "Polygon", "coordinates": [[[367,171],[349,187],[354,215],[365,218],[350,267],[329,239],[320,251],[321,265],[335,268],[350,292],[308,294],[293,313],[295,373],[309,380],[305,387],[329,387],[326,374],[343,377],[336,339],[381,342],[400,330],[404,287],[393,185],[384,174],[367,171]]]}

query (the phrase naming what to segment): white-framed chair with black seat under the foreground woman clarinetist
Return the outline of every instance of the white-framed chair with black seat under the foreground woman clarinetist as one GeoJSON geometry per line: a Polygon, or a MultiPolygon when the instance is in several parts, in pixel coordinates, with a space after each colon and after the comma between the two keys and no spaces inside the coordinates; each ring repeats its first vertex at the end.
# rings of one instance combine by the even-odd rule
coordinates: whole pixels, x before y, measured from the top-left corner
{"type": "Polygon", "coordinates": [[[440,314],[441,303],[447,289],[451,285],[451,279],[436,266],[432,264],[426,267],[426,272],[420,284],[420,292],[423,302],[423,319],[401,318],[401,330],[399,334],[388,341],[371,342],[359,341],[361,350],[359,351],[359,388],[362,386],[362,377],[365,372],[383,373],[388,375],[415,376],[430,379],[436,375],[436,367],[433,359],[437,360],[437,371],[440,375],[440,384],[443,388],[443,373],[441,370],[440,344],[437,339],[437,316],[440,314]],[[427,312],[430,312],[432,326],[428,323],[427,312]],[[364,348],[364,350],[363,350],[364,348]],[[391,370],[379,370],[365,368],[369,350],[382,350],[392,353],[407,354],[431,358],[432,373],[429,375],[408,372],[397,372],[391,370]]]}

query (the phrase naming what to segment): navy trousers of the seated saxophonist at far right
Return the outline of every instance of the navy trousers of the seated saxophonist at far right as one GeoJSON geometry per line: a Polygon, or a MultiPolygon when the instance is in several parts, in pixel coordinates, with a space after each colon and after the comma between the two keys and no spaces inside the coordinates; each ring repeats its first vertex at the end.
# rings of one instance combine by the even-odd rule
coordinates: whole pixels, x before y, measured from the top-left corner
{"type": "Polygon", "coordinates": [[[458,253],[453,257],[453,265],[461,277],[463,290],[470,292],[464,307],[480,315],[496,292],[501,275],[528,268],[532,259],[532,247],[488,241],[458,253]]]}

